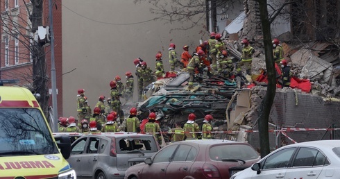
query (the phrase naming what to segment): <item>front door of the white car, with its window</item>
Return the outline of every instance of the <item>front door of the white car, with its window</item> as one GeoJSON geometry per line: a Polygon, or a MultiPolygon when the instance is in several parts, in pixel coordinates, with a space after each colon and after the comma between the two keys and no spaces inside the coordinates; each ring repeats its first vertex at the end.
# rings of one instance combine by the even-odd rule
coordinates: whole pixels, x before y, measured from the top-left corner
{"type": "Polygon", "coordinates": [[[282,178],[287,171],[287,167],[289,166],[289,162],[296,151],[296,147],[284,148],[280,151],[276,151],[275,153],[270,153],[266,160],[261,162],[261,172],[257,174],[257,171],[253,171],[254,179],[263,179],[263,178],[282,178]]]}

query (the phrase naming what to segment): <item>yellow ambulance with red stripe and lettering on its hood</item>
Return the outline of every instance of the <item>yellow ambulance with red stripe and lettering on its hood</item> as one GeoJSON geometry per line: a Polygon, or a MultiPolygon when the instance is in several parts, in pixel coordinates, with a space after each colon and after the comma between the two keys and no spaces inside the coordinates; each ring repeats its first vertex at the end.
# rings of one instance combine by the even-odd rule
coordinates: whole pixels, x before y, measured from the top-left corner
{"type": "Polygon", "coordinates": [[[0,179],[76,178],[70,152],[69,137],[57,144],[31,91],[0,86],[0,179]]]}

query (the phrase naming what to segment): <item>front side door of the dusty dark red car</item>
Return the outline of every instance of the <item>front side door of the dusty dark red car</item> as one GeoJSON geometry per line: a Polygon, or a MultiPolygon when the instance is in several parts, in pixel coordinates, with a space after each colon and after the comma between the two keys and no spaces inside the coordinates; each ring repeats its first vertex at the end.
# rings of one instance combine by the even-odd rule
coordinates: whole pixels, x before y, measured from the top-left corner
{"type": "Polygon", "coordinates": [[[146,165],[142,171],[142,178],[166,178],[167,167],[175,153],[178,145],[171,144],[162,148],[153,157],[153,163],[146,165]]]}

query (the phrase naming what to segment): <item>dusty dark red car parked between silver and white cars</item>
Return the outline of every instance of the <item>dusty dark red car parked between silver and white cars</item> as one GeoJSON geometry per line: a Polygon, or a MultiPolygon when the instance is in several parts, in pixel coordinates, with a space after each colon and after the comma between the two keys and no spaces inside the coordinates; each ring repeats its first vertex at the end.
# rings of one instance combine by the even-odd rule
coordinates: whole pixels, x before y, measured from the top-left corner
{"type": "Polygon", "coordinates": [[[255,149],[244,142],[187,140],[169,144],[144,163],[130,167],[125,179],[230,178],[258,160],[255,149]]]}

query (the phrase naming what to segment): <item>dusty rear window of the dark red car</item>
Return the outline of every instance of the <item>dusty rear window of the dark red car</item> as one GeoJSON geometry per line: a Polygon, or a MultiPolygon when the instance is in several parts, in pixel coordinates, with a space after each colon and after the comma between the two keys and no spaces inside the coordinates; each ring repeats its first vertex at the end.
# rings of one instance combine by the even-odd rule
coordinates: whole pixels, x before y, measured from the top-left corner
{"type": "Polygon", "coordinates": [[[259,157],[256,151],[248,145],[219,145],[209,150],[211,160],[237,162],[239,160],[255,160],[259,157]]]}

